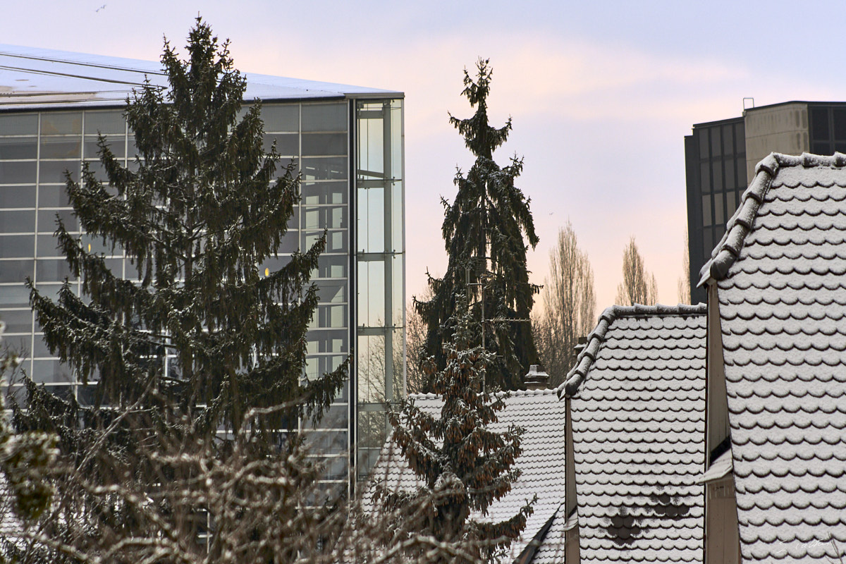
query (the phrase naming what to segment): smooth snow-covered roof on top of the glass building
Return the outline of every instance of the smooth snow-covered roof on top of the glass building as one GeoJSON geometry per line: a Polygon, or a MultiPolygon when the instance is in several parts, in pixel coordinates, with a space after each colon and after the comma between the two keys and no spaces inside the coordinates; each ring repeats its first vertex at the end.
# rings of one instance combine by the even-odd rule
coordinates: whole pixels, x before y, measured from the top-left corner
{"type": "MultiPolygon", "coordinates": [[[[402,97],[392,90],[246,73],[244,100],[402,97]]],[[[167,86],[162,63],[0,44],[0,109],[123,107],[145,78],[167,86]]]]}

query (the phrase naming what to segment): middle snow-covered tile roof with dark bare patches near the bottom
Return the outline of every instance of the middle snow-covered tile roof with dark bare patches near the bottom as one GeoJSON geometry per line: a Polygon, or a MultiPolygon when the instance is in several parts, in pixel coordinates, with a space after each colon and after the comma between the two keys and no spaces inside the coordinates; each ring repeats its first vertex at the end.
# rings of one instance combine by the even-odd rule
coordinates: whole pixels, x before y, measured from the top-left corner
{"type": "Polygon", "coordinates": [[[613,306],[567,381],[582,562],[701,562],[706,307],[613,306]]]}

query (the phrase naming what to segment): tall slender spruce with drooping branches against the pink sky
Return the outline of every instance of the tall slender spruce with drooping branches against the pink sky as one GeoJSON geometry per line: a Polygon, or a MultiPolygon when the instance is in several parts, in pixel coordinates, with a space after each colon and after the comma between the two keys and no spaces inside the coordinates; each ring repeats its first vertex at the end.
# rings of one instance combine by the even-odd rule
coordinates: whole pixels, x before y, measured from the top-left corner
{"type": "Polygon", "coordinates": [[[529,315],[539,287],[529,282],[524,236],[534,249],[538,243],[535,223],[529,211],[530,199],[514,186],[523,170],[523,159],[512,157],[499,167],[493,151],[503,145],[511,131],[511,118],[502,128],[488,123],[487,96],[491,90],[491,68],[487,60],[476,63],[476,78],[464,69],[464,91],[475,107],[472,118],[449,120],[475,162],[464,174],[456,172],[458,194],[445,208],[442,235],[449,255],[442,278],[429,277],[432,298],[417,301],[426,321],[426,353],[434,358],[437,370],[446,366],[443,343],[450,338],[444,322],[459,309],[457,296],[467,293],[476,319],[481,319],[484,302],[486,348],[496,353],[487,370],[486,386],[515,390],[521,375],[537,362],[529,315]],[[470,282],[470,285],[468,284],[470,282]]]}

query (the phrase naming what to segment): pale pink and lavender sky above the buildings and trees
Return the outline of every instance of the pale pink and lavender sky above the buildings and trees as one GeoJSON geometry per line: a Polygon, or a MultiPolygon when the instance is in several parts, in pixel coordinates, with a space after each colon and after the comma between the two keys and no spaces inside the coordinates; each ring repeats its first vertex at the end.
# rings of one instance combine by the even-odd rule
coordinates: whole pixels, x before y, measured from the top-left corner
{"type": "Polygon", "coordinates": [[[693,123],[788,100],[846,100],[838,2],[634,3],[239,0],[8,3],[0,42],[156,60],[183,47],[197,14],[231,41],[246,72],[405,93],[406,294],[441,276],[441,198],[472,164],[448,112],[469,117],[462,70],[493,68],[492,125],[514,130],[495,158],[525,159],[543,283],[571,222],[596,278],[597,315],[613,304],[634,237],[659,302],[678,302],[686,203],[684,135],[693,123]]]}

